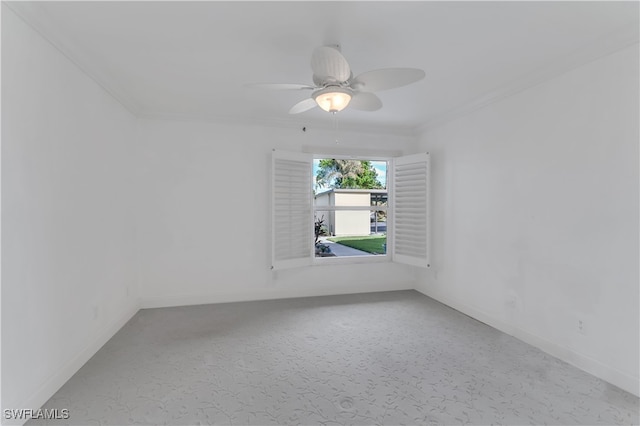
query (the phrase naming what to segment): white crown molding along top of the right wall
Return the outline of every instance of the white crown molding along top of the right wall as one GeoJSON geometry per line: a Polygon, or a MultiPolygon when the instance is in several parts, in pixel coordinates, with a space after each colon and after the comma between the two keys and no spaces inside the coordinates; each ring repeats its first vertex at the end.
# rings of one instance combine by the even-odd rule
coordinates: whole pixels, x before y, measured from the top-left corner
{"type": "Polygon", "coordinates": [[[446,111],[442,114],[428,117],[424,122],[413,128],[414,135],[420,135],[426,130],[437,127],[460,117],[468,115],[478,109],[484,108],[519,92],[556,78],[573,69],[579,68],[590,62],[612,55],[620,50],[638,44],[640,29],[638,23],[622,27],[595,42],[575,50],[571,55],[548,62],[545,66],[524,75],[496,90],[488,92],[470,102],[446,111]]]}

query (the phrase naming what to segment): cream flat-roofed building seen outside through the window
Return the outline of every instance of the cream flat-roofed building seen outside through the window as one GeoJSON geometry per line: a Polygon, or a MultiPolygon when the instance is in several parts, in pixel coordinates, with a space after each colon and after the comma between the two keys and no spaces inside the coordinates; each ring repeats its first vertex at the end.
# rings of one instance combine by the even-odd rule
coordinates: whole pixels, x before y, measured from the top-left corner
{"type": "MultiPolygon", "coordinates": [[[[316,206],[363,207],[386,202],[386,189],[329,189],[315,196],[316,206]]],[[[331,235],[360,236],[371,234],[372,212],[369,210],[318,210],[316,219],[324,217],[331,235]]]]}

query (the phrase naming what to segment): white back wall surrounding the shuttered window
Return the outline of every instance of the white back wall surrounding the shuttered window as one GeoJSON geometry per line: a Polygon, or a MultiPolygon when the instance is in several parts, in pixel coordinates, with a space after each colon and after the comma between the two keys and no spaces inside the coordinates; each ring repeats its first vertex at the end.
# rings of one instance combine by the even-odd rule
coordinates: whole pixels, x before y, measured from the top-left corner
{"type": "MultiPolygon", "coordinates": [[[[302,126],[301,126],[302,127],[302,126]]],[[[272,149],[335,145],[331,131],[140,120],[142,306],[413,288],[396,264],[272,272],[272,149]]],[[[415,149],[414,138],[341,132],[339,149],[415,149]]]]}

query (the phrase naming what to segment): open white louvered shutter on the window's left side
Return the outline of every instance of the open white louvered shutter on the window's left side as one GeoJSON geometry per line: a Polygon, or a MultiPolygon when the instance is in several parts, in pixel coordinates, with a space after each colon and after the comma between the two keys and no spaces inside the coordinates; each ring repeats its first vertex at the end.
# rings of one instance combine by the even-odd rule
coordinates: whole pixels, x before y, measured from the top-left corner
{"type": "Polygon", "coordinates": [[[310,154],[273,151],[273,269],[309,265],[313,259],[312,168],[310,154]]]}

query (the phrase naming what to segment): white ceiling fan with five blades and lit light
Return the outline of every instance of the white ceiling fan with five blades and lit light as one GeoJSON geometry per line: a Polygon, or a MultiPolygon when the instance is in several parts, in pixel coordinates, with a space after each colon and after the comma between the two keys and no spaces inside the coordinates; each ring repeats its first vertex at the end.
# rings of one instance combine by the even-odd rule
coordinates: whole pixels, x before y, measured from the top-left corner
{"type": "Polygon", "coordinates": [[[299,114],[316,106],[331,113],[347,106],[361,111],[377,111],[382,101],[373,92],[406,86],[424,78],[416,68],[385,68],[353,76],[349,63],[340,53],[340,46],[321,46],[311,57],[313,86],[307,84],[250,84],[276,90],[311,90],[311,96],[295,104],[289,114],[299,114]]]}

